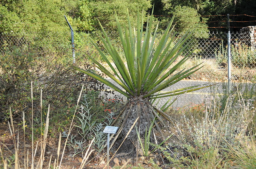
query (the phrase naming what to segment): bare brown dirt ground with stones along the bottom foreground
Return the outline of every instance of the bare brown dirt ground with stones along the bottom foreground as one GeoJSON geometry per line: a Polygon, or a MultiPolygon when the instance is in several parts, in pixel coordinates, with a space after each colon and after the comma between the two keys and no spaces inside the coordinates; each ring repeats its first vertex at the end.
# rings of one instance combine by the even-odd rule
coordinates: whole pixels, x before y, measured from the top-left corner
{"type": "MultiPolygon", "coordinates": [[[[24,168],[24,158],[29,161],[29,166],[28,168],[31,168],[32,164],[32,144],[31,144],[31,138],[28,137],[28,133],[26,133],[25,140],[26,142],[24,143],[24,135],[23,131],[20,125],[16,124],[14,125],[14,135],[16,139],[16,143],[19,142],[18,146],[18,158],[19,158],[19,165],[20,168],[24,168]],[[19,133],[19,134],[18,134],[19,133]],[[19,135],[19,136],[18,136],[19,135]],[[19,138],[18,138],[19,137],[19,138]],[[19,141],[18,141],[19,140],[19,141]],[[26,153],[25,153],[26,152],[26,153]]],[[[13,139],[10,134],[10,130],[8,127],[8,124],[6,123],[1,123],[0,124],[0,146],[2,149],[3,153],[3,158],[8,159],[7,160],[7,166],[8,168],[14,168],[14,154],[15,154],[15,147],[13,144],[13,139]]],[[[61,158],[61,154],[63,151],[63,147],[65,144],[65,139],[61,139],[61,148],[60,148],[60,157],[59,157],[59,162],[61,158]]],[[[34,138],[34,166],[38,163],[38,159],[40,158],[41,155],[41,139],[40,138],[34,138]]],[[[45,157],[44,157],[44,162],[45,165],[43,168],[48,168],[48,164],[51,160],[51,164],[54,164],[55,158],[57,159],[57,147],[58,147],[58,138],[57,137],[48,137],[47,138],[47,143],[46,143],[46,150],[45,150],[45,157]]],[[[81,155],[76,155],[75,157],[71,157],[74,154],[74,150],[68,146],[66,146],[63,160],[61,163],[61,169],[78,169],[81,165],[82,162],[82,156],[81,155]]],[[[92,152],[92,155],[90,158],[96,156],[96,152],[92,152]]],[[[97,158],[93,159],[90,161],[87,165],[85,165],[83,168],[104,168],[106,165],[106,159],[104,159],[102,162],[101,160],[103,159],[103,156],[105,154],[99,155],[97,158]],[[101,163],[100,163],[101,162],[101,163]]],[[[111,157],[111,154],[110,154],[111,157]]],[[[89,158],[89,159],[90,159],[89,158]]],[[[137,159],[135,158],[114,158],[113,160],[110,161],[110,168],[123,168],[125,169],[131,169],[134,166],[141,166],[142,168],[155,168],[154,166],[158,165],[160,168],[169,168],[163,165],[161,159],[159,158],[158,155],[153,154],[150,156],[150,159],[153,159],[154,163],[149,162],[149,158],[145,159],[144,157],[140,157],[137,159]],[[153,166],[154,165],[154,166],[153,166]]],[[[0,165],[2,164],[2,160],[0,162],[0,165]]]]}

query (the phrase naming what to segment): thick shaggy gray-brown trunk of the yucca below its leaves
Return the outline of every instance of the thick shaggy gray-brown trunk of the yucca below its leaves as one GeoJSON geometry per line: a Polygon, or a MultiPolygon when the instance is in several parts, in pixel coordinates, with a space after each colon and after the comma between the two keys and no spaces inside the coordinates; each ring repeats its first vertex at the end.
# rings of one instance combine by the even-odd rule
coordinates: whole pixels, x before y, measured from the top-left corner
{"type": "MultiPolygon", "coordinates": [[[[131,129],[131,126],[135,122],[137,117],[139,117],[139,119],[135,125],[140,134],[140,138],[144,140],[145,132],[146,130],[148,130],[150,123],[153,121],[153,119],[156,116],[156,112],[153,112],[153,110],[154,108],[152,106],[152,103],[149,102],[148,98],[143,98],[141,96],[130,98],[124,108],[124,113],[122,117],[123,120],[121,123],[124,125],[124,127],[121,128],[122,132],[119,137],[119,140],[120,141],[124,140],[124,137],[126,136],[127,132],[131,129]]],[[[156,125],[158,124],[156,123],[156,125]]],[[[158,131],[158,132],[161,132],[161,131],[158,131]]],[[[150,140],[152,143],[155,143],[155,141],[153,141],[154,140],[153,135],[151,135],[150,140]]],[[[120,142],[117,141],[117,144],[115,146],[116,148],[120,146],[118,143],[120,144],[120,142]]],[[[141,151],[137,133],[136,133],[135,127],[133,127],[132,130],[130,131],[130,134],[124,141],[124,144],[121,145],[118,153],[121,153],[123,155],[126,154],[126,155],[134,156],[134,154],[136,153],[136,150],[141,151]]],[[[141,151],[140,154],[143,154],[143,152],[141,151]]]]}

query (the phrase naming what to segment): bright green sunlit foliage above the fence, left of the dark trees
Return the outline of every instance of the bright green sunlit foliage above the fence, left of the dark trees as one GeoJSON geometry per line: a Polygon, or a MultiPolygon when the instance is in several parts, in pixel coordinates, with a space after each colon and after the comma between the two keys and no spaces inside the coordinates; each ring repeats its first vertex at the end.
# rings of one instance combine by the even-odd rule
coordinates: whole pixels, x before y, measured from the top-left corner
{"type": "MultiPolygon", "coordinates": [[[[89,32],[100,28],[116,29],[114,10],[124,18],[129,9],[131,21],[137,11],[151,7],[147,0],[5,0],[0,2],[0,31],[63,31],[68,30],[64,15],[73,29],[89,32]]],[[[146,14],[146,12],[144,12],[146,14]]]]}

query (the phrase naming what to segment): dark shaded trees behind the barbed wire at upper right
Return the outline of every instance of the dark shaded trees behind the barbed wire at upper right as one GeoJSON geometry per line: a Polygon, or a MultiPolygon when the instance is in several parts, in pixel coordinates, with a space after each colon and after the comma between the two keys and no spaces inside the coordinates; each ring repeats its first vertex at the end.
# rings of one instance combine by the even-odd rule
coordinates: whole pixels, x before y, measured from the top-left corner
{"type": "MultiPolygon", "coordinates": [[[[254,0],[153,0],[152,4],[156,4],[157,15],[172,15],[175,12],[175,8],[178,6],[189,7],[196,10],[201,16],[219,15],[203,17],[200,20],[205,23],[208,27],[226,27],[227,14],[239,15],[246,14],[250,16],[256,16],[256,3],[254,0]],[[224,15],[224,16],[220,16],[224,15]],[[220,22],[218,22],[220,21],[220,22]]],[[[185,9],[184,8],[184,9],[185,9]]],[[[194,12],[193,12],[194,13],[194,12]]],[[[197,16],[200,16],[197,15],[197,16]]],[[[183,16],[183,15],[182,15],[183,16]]],[[[189,15],[192,16],[192,15],[189,15]]],[[[163,25],[166,20],[164,17],[159,17],[163,25]]],[[[189,18],[187,18],[189,19],[189,18]]],[[[254,21],[254,17],[242,16],[230,16],[231,21],[254,21]]],[[[239,31],[241,27],[250,25],[256,25],[255,22],[233,22],[230,26],[237,27],[231,28],[233,31],[239,31]]],[[[164,25],[166,26],[166,25],[164,25]]],[[[163,26],[163,27],[164,27],[163,26]]],[[[209,31],[227,31],[227,28],[209,28],[209,31]]]]}

